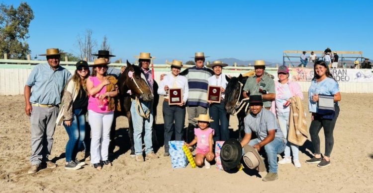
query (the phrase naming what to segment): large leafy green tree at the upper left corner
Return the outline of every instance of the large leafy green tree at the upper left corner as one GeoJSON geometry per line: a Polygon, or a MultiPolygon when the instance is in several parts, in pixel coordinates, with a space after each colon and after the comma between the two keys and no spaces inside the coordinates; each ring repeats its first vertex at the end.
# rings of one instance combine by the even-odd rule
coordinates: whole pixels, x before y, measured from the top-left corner
{"type": "Polygon", "coordinates": [[[28,27],[34,12],[26,2],[18,7],[0,4],[0,58],[4,53],[9,59],[26,59],[30,49],[26,42],[28,27]]]}

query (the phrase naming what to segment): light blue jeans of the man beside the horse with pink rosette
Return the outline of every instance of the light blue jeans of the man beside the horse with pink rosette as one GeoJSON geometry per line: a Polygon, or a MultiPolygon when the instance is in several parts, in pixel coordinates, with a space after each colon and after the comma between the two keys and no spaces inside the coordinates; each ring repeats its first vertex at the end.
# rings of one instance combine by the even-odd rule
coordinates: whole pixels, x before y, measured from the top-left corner
{"type": "MultiPolygon", "coordinates": [[[[151,103],[140,100],[140,104],[144,112],[146,112],[151,103]]],[[[142,140],[141,134],[145,126],[145,153],[148,154],[150,151],[153,151],[153,142],[152,142],[152,131],[153,131],[153,111],[150,112],[149,118],[145,119],[141,117],[136,110],[136,100],[132,101],[131,104],[131,117],[133,125],[133,139],[135,143],[135,154],[142,155],[142,140]]]]}

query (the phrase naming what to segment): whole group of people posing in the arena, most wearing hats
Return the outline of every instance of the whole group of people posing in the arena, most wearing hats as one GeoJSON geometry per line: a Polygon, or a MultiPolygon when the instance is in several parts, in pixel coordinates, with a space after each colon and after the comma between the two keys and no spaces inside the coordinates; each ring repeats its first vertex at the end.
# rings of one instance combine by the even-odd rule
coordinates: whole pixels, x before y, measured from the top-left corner
{"type": "MultiPolygon", "coordinates": [[[[56,123],[63,124],[69,135],[66,144],[66,169],[76,170],[85,165],[85,162],[76,159],[78,151],[83,148],[86,152],[90,149],[91,163],[97,170],[103,166],[112,165],[108,159],[108,149],[110,128],[114,118],[114,98],[118,94],[116,77],[124,69],[108,67],[109,57],[113,55],[110,55],[108,51],[99,51],[92,65],[86,61],[79,61],[76,64],[75,73],[71,75],[67,69],[59,65],[61,54],[58,49],[47,49],[47,53],[42,56],[47,57],[48,64],[36,65],[25,85],[25,112],[31,120],[32,152],[29,174],[36,173],[41,164],[46,164],[48,168],[56,167],[56,164],[48,159],[56,123]],[[58,105],[60,105],[59,113],[58,105]],[[88,122],[92,130],[90,147],[84,141],[85,135],[89,135],[86,133],[86,113],[88,113],[88,122]]],[[[151,90],[164,96],[162,103],[165,127],[164,156],[170,155],[169,141],[175,132],[175,140],[185,139],[188,147],[195,148],[196,164],[208,167],[209,162],[214,158],[213,144],[216,141],[226,141],[230,138],[229,115],[224,107],[228,80],[226,74],[222,73],[223,67],[227,64],[214,61],[205,66],[204,62],[207,57],[203,52],[197,52],[192,57],[195,66],[181,71],[183,62],[173,60],[170,64],[171,73],[161,75],[161,82],[158,90],[155,91],[152,70],[149,69],[152,59],[150,53],[140,53],[136,58],[139,59],[139,66],[151,90]],[[207,100],[209,85],[220,87],[219,103],[207,100]],[[181,103],[177,105],[169,103],[170,88],[181,88],[183,92],[181,103]],[[186,136],[183,136],[186,111],[188,127],[186,136]]],[[[274,181],[278,179],[278,163],[291,163],[291,151],[295,167],[301,167],[298,146],[287,141],[287,132],[288,120],[294,116],[290,115],[289,110],[290,105],[293,105],[291,98],[303,99],[303,94],[299,84],[289,80],[288,67],[279,67],[278,81],[274,81],[265,72],[264,61],[255,61],[254,68],[255,74],[247,78],[243,87],[242,95],[245,98],[249,97],[250,111],[245,117],[245,135],[240,144],[242,147],[249,144],[258,152],[266,152],[269,173],[263,180],[274,181]],[[255,139],[252,139],[253,132],[257,136],[255,139]],[[277,154],[283,151],[284,158],[277,162],[277,154]]],[[[314,74],[308,91],[308,106],[309,111],[312,112],[309,130],[315,156],[306,162],[317,163],[319,167],[325,167],[330,164],[334,141],[333,129],[339,114],[338,101],[341,100],[341,95],[338,83],[331,75],[325,61],[315,61],[314,74]],[[318,105],[320,100],[324,101],[323,104],[331,104],[325,109],[318,105]],[[318,137],[321,128],[324,128],[326,143],[323,156],[320,152],[318,137]]],[[[151,103],[142,100],[140,103],[144,112],[150,111],[149,116],[141,117],[137,115],[136,105],[134,101],[132,102],[135,160],[143,162],[143,128],[145,128],[145,159],[157,159],[159,156],[153,151],[151,103]]]]}

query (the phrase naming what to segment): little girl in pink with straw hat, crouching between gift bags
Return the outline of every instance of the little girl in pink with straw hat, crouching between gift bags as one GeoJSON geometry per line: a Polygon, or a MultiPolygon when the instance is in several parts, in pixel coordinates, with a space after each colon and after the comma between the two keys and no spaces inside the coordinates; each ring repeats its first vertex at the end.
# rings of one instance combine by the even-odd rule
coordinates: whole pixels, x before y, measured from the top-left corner
{"type": "Polygon", "coordinates": [[[208,128],[208,123],[214,120],[209,119],[208,115],[205,114],[199,114],[199,116],[194,119],[198,121],[198,128],[194,129],[194,139],[190,141],[190,143],[186,143],[186,145],[189,147],[197,143],[194,158],[195,164],[200,167],[204,162],[205,168],[209,169],[209,162],[214,159],[215,155],[212,152],[212,136],[214,135],[214,129],[208,128]]]}

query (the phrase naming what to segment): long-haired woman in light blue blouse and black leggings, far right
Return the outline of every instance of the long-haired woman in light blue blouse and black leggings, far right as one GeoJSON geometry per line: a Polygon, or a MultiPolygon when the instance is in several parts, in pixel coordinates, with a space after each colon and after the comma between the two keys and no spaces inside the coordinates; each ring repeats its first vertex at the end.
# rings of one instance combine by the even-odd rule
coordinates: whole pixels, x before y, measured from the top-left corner
{"type": "Polygon", "coordinates": [[[315,156],[306,161],[309,164],[317,164],[318,167],[330,165],[330,154],[333,149],[334,137],[333,130],[339,115],[339,104],[341,93],[339,92],[338,82],[329,71],[329,66],[324,61],[317,61],[313,67],[314,78],[311,80],[311,86],[308,89],[308,109],[312,113],[312,122],[309,128],[315,156]],[[334,111],[327,113],[319,108],[319,100],[327,101],[333,99],[334,111]],[[324,128],[325,134],[325,154],[322,157],[320,152],[320,129],[324,128]]]}

